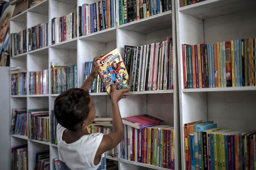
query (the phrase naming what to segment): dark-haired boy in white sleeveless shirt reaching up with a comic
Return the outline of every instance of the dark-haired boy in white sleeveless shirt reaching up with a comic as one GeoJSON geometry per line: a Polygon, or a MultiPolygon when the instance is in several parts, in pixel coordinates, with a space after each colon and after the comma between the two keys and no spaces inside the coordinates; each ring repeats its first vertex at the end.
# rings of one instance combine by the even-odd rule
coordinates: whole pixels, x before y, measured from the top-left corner
{"type": "MultiPolygon", "coordinates": [[[[102,55],[94,58],[94,62],[102,55]]],[[[94,64],[93,64],[94,65],[94,64]]],[[[59,95],[54,102],[54,114],[58,120],[57,140],[60,161],[72,170],[96,170],[103,154],[116,147],[124,137],[123,123],[117,102],[129,95],[129,89],[116,90],[112,83],[111,103],[113,112],[113,132],[89,134],[87,126],[95,118],[94,102],[88,93],[97,77],[100,65],[92,66],[90,76],[81,88],[69,89],[59,95]]]]}

